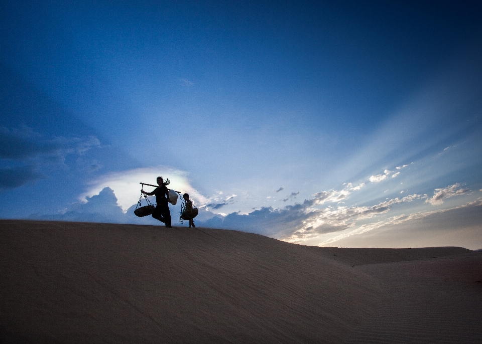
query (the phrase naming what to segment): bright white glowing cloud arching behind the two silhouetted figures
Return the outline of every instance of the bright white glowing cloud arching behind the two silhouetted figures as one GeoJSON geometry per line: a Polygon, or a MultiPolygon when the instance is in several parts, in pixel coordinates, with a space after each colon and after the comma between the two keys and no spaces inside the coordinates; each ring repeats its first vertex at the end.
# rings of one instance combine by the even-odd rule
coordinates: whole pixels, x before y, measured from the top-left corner
{"type": "MultiPolygon", "coordinates": [[[[141,195],[141,185],[139,183],[147,183],[156,185],[156,178],[162,176],[169,178],[171,184],[169,189],[173,189],[182,193],[189,193],[195,204],[206,204],[207,200],[189,183],[187,173],[185,171],[166,167],[148,167],[136,168],[120,172],[105,174],[89,183],[88,191],[80,195],[80,201],[85,202],[86,197],[97,195],[104,188],[113,190],[117,204],[127,211],[133,204],[137,203],[141,195]]],[[[148,191],[154,190],[153,187],[144,187],[148,191]]]]}

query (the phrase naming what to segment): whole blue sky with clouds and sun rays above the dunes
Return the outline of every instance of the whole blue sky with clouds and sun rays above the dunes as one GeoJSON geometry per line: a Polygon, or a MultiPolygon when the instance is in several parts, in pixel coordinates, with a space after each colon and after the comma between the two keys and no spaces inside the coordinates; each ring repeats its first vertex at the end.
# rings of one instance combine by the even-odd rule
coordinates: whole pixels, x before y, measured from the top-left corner
{"type": "Polygon", "coordinates": [[[482,248],[479,2],[0,10],[0,218],[160,224],[162,176],[198,226],[482,248]]]}

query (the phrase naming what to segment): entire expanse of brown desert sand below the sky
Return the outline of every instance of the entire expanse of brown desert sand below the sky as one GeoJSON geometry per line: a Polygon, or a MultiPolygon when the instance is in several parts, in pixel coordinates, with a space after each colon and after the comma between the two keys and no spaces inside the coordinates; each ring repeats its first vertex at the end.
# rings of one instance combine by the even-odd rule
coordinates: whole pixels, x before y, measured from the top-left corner
{"type": "Polygon", "coordinates": [[[12,343],[482,342],[482,252],[0,221],[12,343]]]}

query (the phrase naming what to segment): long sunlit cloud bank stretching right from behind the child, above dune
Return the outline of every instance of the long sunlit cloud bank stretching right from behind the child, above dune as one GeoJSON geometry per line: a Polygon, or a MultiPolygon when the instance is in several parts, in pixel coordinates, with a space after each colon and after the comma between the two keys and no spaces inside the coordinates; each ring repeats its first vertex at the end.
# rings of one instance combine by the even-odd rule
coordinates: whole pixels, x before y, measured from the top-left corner
{"type": "MultiPolygon", "coordinates": [[[[387,173],[387,170],[385,173],[387,173]]],[[[303,203],[296,203],[281,209],[264,207],[249,214],[231,213],[223,218],[211,219],[206,225],[269,235],[292,243],[304,243],[320,235],[343,232],[320,244],[328,245],[351,235],[397,224],[397,221],[414,219],[416,215],[403,215],[392,217],[390,220],[377,221],[380,215],[389,213],[394,206],[428,199],[427,195],[412,194],[387,199],[373,206],[346,207],[339,203],[339,200],[346,199],[353,191],[359,190],[363,186],[364,184],[356,187],[347,184],[341,191],[322,191],[314,194],[313,198],[305,200],[303,203]],[[326,206],[326,203],[335,202],[338,203],[337,206],[326,206]],[[323,206],[323,208],[320,208],[320,206],[323,206]]],[[[436,189],[435,192],[434,198],[430,199],[432,202],[434,200],[440,201],[440,197],[443,199],[462,195],[467,193],[468,190],[461,189],[460,185],[456,184],[444,189],[436,189]]]]}

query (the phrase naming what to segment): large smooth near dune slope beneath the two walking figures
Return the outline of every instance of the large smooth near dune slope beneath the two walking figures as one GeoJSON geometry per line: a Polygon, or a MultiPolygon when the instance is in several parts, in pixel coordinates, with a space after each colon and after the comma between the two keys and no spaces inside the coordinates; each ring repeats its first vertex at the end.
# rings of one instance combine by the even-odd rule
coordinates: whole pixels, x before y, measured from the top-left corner
{"type": "Polygon", "coordinates": [[[363,272],[225,230],[1,222],[4,336],[58,342],[339,342],[378,304],[363,272]]]}

